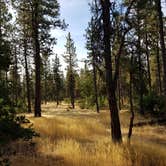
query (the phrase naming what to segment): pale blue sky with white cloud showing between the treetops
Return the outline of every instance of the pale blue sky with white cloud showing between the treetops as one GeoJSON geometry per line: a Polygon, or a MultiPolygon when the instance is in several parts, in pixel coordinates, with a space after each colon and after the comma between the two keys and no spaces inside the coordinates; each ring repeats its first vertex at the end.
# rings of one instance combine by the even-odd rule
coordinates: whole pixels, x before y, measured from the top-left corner
{"type": "MultiPolygon", "coordinates": [[[[65,19],[65,22],[69,24],[66,31],[57,29],[52,31],[52,35],[57,38],[54,54],[58,54],[62,69],[64,69],[66,65],[63,62],[62,54],[65,52],[64,45],[66,44],[68,32],[71,33],[71,37],[75,42],[77,59],[80,61],[87,57],[84,34],[91,17],[88,5],[90,0],[59,0],[58,2],[60,3],[60,18],[65,19]]],[[[83,67],[81,62],[78,62],[78,65],[83,67]]]]}

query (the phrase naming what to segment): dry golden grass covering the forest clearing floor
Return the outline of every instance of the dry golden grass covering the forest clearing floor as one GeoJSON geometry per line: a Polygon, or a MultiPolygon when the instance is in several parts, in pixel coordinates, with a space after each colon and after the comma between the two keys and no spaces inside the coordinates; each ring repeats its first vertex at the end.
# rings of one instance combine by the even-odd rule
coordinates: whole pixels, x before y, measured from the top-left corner
{"type": "MultiPolygon", "coordinates": [[[[130,113],[120,112],[123,144],[114,145],[110,136],[109,112],[68,108],[55,103],[42,106],[42,117],[26,117],[40,137],[17,141],[10,147],[13,166],[166,166],[166,126],[134,127],[127,144],[130,113]]],[[[150,118],[136,115],[134,123],[150,118]]]]}

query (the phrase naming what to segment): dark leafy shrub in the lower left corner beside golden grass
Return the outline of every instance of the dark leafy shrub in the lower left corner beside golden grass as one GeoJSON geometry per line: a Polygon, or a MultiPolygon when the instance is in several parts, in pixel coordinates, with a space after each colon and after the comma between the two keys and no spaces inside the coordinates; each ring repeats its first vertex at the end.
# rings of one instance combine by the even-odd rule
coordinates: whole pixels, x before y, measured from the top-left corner
{"type": "Polygon", "coordinates": [[[0,99],[0,144],[6,144],[16,139],[30,140],[38,134],[32,128],[22,127],[23,123],[30,123],[24,116],[16,116],[15,109],[0,99]]]}

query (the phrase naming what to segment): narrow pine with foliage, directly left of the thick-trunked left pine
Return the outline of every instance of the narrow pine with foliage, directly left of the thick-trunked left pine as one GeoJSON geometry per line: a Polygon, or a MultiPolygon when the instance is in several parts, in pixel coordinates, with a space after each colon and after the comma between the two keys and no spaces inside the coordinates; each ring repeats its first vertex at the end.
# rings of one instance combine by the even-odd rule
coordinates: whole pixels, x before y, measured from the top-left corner
{"type": "MultiPolygon", "coordinates": [[[[31,60],[31,52],[33,51],[32,46],[32,28],[31,24],[31,10],[27,1],[23,0],[20,2],[21,8],[18,10],[18,15],[16,18],[17,23],[17,32],[19,33],[19,45],[21,50],[21,59],[24,61],[23,67],[25,68],[25,80],[26,80],[26,98],[27,98],[27,112],[31,113],[31,86],[30,86],[30,68],[31,64],[29,63],[31,60]],[[23,54],[23,57],[22,57],[23,54]]],[[[14,5],[14,4],[13,4],[14,5]]],[[[17,4],[18,5],[18,4],[17,4]]],[[[16,7],[14,5],[14,7],[16,7]]],[[[17,7],[16,7],[17,8],[17,7]]]]}

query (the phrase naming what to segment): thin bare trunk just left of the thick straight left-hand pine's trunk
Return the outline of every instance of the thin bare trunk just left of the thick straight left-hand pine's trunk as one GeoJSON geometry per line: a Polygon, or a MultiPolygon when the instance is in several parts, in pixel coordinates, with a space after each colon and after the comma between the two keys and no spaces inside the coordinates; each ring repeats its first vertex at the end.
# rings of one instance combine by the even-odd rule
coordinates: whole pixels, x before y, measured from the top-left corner
{"type": "Polygon", "coordinates": [[[32,110],[31,110],[30,79],[29,79],[28,62],[27,62],[27,41],[26,41],[26,39],[24,39],[24,61],[25,61],[28,112],[31,113],[32,110]]]}

